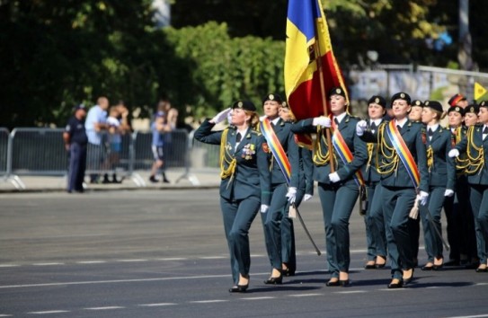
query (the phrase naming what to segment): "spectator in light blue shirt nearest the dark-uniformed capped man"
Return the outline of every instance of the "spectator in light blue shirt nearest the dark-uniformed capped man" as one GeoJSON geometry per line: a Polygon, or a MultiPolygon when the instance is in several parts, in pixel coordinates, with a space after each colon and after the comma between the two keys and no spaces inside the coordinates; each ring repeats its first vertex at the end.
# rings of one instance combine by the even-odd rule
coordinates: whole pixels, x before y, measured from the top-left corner
{"type": "MultiPolygon", "coordinates": [[[[105,162],[104,138],[107,132],[107,110],[109,100],[106,97],[99,97],[97,104],[94,105],[86,115],[84,128],[88,137],[88,170],[100,171],[102,163],[105,162]]],[[[92,173],[90,182],[97,183],[99,175],[92,173]]]]}

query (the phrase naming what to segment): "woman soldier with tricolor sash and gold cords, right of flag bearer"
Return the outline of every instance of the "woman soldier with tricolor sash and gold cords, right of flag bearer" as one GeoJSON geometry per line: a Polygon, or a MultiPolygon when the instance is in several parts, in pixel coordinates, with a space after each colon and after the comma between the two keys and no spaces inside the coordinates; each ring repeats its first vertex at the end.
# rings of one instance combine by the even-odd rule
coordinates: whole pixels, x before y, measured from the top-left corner
{"type": "Polygon", "coordinates": [[[413,251],[408,218],[414,201],[426,205],[429,198],[427,155],[421,138],[421,123],[408,119],[410,96],[392,96],[394,119],[382,123],[377,136],[367,131],[361,120],[357,134],[368,142],[377,142],[377,171],[381,175],[381,197],[386,226],[386,242],[392,280],[388,288],[401,288],[413,279],[413,251]],[[420,193],[417,194],[417,190],[420,193]]]}

